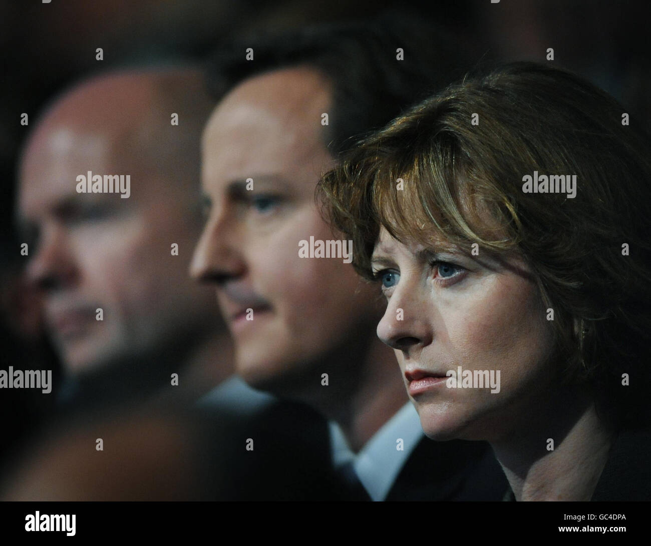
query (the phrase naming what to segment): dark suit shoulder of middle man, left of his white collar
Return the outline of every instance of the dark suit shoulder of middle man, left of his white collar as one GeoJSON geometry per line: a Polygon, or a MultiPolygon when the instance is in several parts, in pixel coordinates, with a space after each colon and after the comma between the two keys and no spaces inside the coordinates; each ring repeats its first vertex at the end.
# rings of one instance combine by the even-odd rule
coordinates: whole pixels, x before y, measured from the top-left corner
{"type": "Polygon", "coordinates": [[[197,413],[215,483],[208,500],[357,500],[331,464],[327,421],[311,407],[277,401],[252,415],[197,413]]]}

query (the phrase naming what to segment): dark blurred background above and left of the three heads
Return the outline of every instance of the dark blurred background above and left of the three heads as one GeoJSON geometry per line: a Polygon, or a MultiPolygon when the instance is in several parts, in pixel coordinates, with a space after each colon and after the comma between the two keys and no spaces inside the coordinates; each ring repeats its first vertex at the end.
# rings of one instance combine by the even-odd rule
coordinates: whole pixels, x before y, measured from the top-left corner
{"type": "MultiPolygon", "coordinates": [[[[651,58],[645,0],[0,0],[0,368],[20,362],[55,370],[42,339],[38,301],[21,285],[12,229],[16,159],[38,113],[79,79],[110,68],[202,60],[220,44],[260,30],[372,16],[423,13],[471,44],[478,59],[547,62],[582,74],[651,122],[651,58]],[[96,48],[104,60],[96,61],[96,48]],[[29,126],[21,126],[22,113],[29,126]]],[[[436,67],[433,67],[436,68],[436,67]]],[[[0,465],[33,433],[54,397],[0,390],[0,465]],[[10,415],[11,419],[6,417],[10,415]]]]}

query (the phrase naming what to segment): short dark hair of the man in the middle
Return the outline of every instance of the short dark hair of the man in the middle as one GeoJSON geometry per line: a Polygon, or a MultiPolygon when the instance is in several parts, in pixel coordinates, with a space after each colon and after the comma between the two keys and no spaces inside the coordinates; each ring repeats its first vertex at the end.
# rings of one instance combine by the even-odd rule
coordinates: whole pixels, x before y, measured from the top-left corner
{"type": "Polygon", "coordinates": [[[387,12],[374,20],[313,25],[223,44],[209,63],[208,82],[221,98],[264,72],[316,68],[333,85],[326,145],[337,155],[352,147],[355,137],[380,129],[467,72],[467,43],[432,21],[387,12]],[[247,48],[253,49],[253,61],[245,59],[247,48]]]}

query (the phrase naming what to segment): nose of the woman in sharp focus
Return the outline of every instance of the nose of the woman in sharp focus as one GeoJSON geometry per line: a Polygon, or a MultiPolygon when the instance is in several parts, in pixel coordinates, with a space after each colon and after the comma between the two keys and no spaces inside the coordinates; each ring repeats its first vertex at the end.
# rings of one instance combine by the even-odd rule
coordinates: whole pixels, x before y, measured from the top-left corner
{"type": "Polygon", "coordinates": [[[429,318],[426,295],[400,279],[378,323],[378,337],[389,347],[406,353],[422,348],[434,338],[429,318]]]}

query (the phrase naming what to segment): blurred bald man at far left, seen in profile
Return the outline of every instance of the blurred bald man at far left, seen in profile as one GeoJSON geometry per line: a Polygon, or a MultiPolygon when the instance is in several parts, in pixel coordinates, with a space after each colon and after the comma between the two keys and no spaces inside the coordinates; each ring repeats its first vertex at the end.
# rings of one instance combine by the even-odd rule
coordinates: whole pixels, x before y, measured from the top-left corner
{"type": "Polygon", "coordinates": [[[232,371],[214,295],[187,276],[211,107],[196,70],[121,71],[68,90],[29,135],[26,272],[68,386],[89,398],[196,399],[232,371]]]}

